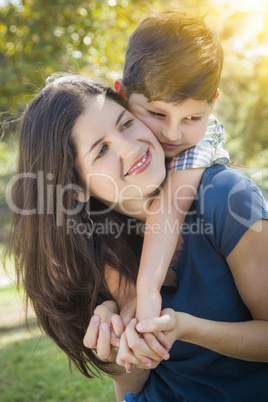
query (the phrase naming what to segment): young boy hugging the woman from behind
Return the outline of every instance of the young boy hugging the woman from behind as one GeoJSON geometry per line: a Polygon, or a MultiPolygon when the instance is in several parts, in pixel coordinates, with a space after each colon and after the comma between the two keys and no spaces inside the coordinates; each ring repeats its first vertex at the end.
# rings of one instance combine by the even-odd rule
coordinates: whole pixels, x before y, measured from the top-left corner
{"type": "Polygon", "coordinates": [[[211,115],[222,63],[217,34],[185,12],[147,17],[129,40],[123,80],[117,80],[115,88],[161,143],[168,170],[146,221],[137,280],[138,321],[160,315],[160,289],[180,248],[174,229],[183,229],[204,169],[229,163],[224,128],[211,115]]]}

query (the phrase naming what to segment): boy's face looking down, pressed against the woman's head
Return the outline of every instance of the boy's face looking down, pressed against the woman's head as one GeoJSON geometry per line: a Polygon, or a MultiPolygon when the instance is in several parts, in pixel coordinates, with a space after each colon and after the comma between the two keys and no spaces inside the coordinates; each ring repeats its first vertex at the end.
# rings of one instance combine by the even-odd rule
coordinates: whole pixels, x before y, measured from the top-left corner
{"type": "Polygon", "coordinates": [[[131,113],[154,133],[167,158],[179,155],[203,138],[212,110],[212,104],[207,101],[150,102],[136,93],[129,97],[128,105],[131,113]]]}

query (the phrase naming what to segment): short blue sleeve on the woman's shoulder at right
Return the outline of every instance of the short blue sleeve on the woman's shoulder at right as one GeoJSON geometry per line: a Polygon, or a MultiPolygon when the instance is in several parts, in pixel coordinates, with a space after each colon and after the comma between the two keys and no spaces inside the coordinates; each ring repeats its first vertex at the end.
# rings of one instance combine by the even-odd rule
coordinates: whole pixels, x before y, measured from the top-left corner
{"type": "Polygon", "coordinates": [[[214,228],[210,240],[226,258],[255,222],[268,219],[267,204],[255,183],[236,169],[225,168],[204,188],[205,220],[214,228]]]}

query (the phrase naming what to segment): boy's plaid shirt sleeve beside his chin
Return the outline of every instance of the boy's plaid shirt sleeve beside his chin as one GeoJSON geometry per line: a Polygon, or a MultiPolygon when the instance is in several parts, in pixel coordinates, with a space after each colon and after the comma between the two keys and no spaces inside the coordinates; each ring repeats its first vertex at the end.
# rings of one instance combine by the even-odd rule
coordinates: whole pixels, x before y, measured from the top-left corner
{"type": "Polygon", "coordinates": [[[227,165],[230,162],[228,152],[223,148],[225,131],[223,125],[212,114],[209,117],[207,131],[195,147],[187,149],[171,159],[168,164],[170,173],[177,170],[208,168],[212,165],[227,165]]]}

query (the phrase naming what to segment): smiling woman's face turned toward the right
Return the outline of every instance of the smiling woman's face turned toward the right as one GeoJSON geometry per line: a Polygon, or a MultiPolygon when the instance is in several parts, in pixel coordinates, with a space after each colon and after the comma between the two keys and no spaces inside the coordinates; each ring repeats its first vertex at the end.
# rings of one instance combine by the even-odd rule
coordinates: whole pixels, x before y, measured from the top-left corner
{"type": "Polygon", "coordinates": [[[82,183],[113,208],[146,199],[165,178],[164,152],[152,132],[102,95],[89,99],[73,138],[82,183]]]}

